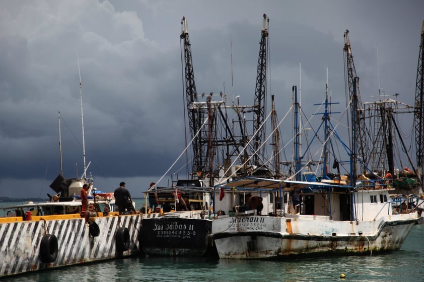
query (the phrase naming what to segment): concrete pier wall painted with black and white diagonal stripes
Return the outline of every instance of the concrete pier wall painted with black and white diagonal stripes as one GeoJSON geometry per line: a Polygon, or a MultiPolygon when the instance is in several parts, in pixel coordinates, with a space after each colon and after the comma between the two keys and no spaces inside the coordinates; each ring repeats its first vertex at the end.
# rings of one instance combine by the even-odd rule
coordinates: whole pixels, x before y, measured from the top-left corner
{"type": "MultiPolygon", "coordinates": [[[[56,216],[59,217],[59,216],[56,216]]],[[[47,217],[46,217],[47,218],[47,217]]],[[[91,218],[97,226],[98,236],[93,237],[85,219],[55,219],[0,223],[0,276],[28,271],[55,268],[117,257],[138,255],[137,236],[140,215],[91,218]],[[120,228],[129,231],[128,249],[118,251],[116,236],[120,228]],[[44,263],[40,256],[44,235],[57,238],[57,257],[44,263]]]]}

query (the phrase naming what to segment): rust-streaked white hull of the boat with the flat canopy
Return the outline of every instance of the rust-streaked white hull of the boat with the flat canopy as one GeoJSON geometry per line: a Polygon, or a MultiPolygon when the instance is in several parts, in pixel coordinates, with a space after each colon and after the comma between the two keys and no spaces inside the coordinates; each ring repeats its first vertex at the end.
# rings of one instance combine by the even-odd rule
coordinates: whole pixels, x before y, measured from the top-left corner
{"type": "Polygon", "coordinates": [[[229,259],[372,254],[398,250],[417,220],[416,214],[371,222],[323,218],[222,218],[214,220],[212,237],[219,257],[229,259]]]}

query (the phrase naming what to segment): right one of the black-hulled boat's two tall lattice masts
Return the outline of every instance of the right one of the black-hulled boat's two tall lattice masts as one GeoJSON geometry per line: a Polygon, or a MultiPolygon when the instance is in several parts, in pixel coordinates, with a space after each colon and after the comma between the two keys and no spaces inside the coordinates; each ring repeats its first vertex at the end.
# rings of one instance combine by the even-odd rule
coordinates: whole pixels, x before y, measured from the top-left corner
{"type": "MultiPolygon", "coordinates": [[[[253,148],[255,150],[253,155],[253,163],[259,165],[259,148],[261,146],[264,130],[263,130],[263,120],[265,113],[265,102],[266,102],[266,38],[268,37],[268,29],[266,28],[266,22],[269,19],[263,14],[262,22],[262,31],[261,31],[261,40],[259,43],[259,59],[258,59],[258,68],[256,75],[256,89],[255,89],[255,102],[254,102],[254,116],[253,116],[253,133],[256,132],[254,136],[253,148]]],[[[264,146],[262,146],[264,148],[264,146]]]]}

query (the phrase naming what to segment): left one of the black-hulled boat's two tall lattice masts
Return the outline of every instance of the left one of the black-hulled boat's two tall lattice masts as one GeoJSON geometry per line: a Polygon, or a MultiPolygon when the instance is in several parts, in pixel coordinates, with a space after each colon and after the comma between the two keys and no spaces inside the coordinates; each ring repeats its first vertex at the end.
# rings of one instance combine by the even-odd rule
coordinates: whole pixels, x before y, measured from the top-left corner
{"type": "Polygon", "coordinates": [[[194,83],[194,71],[193,71],[193,62],[191,58],[191,43],[188,36],[188,26],[187,20],[183,17],[181,21],[182,33],[180,35],[181,43],[184,46],[184,69],[185,69],[185,92],[186,92],[186,103],[187,103],[187,114],[188,122],[190,125],[190,134],[191,139],[194,138],[192,142],[193,147],[193,172],[204,171],[205,168],[205,154],[207,143],[202,144],[202,132],[197,136],[196,133],[202,126],[204,113],[201,109],[195,106],[197,100],[197,91],[196,84],[194,83]],[[196,137],[195,137],[196,136],[196,137]]]}

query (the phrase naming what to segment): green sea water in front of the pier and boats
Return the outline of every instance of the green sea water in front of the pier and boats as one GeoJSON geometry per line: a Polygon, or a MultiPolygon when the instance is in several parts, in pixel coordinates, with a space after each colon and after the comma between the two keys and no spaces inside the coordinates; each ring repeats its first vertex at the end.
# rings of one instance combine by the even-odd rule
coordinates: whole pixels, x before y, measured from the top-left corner
{"type": "Polygon", "coordinates": [[[284,261],[131,257],[36,271],[0,281],[424,281],[423,234],[424,225],[415,225],[399,251],[372,256],[284,261]],[[340,279],[340,273],[345,274],[344,279],[340,279]]]}

